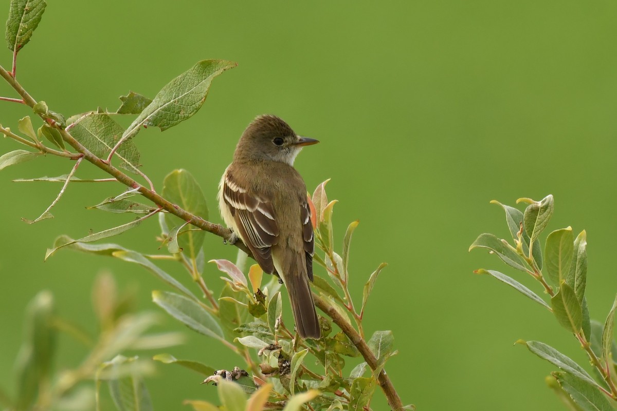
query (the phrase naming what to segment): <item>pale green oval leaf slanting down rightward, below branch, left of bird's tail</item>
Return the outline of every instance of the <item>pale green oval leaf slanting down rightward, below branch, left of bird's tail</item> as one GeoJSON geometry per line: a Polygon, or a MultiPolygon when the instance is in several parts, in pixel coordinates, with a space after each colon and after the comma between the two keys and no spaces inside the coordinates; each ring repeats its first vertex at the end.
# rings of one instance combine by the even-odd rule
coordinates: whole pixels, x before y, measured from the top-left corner
{"type": "Polygon", "coordinates": [[[190,329],[218,340],[225,340],[223,330],[212,314],[194,300],[172,292],[153,291],[152,301],[190,329]]]}

